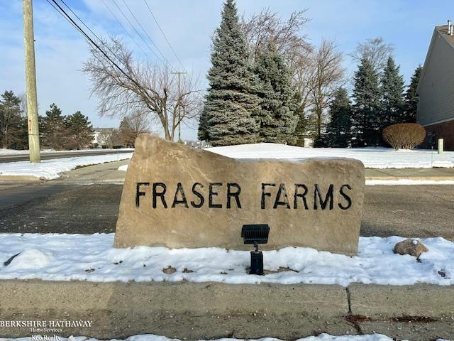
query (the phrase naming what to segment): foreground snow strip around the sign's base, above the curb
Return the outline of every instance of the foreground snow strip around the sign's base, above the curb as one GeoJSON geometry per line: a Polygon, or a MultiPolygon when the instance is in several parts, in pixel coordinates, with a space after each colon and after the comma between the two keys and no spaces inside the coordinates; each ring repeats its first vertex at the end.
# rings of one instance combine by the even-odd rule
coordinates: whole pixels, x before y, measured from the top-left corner
{"type": "MultiPolygon", "coordinates": [[[[224,283],[454,284],[454,242],[419,239],[420,262],[394,254],[402,237],[360,237],[358,256],[303,247],[264,251],[266,276],[246,274],[249,251],[221,248],[115,249],[114,234],[0,234],[0,279],[49,281],[216,281],[224,283]],[[20,253],[20,254],[19,254],[20,253]],[[4,262],[13,258],[9,265],[4,262]],[[163,269],[175,268],[172,274],[163,269]],[[286,269],[288,268],[288,269],[286,269]],[[193,272],[188,272],[193,271],[193,272]]],[[[252,250],[252,247],[251,247],[252,250]]],[[[169,271],[167,271],[169,272],[169,271]]]]}

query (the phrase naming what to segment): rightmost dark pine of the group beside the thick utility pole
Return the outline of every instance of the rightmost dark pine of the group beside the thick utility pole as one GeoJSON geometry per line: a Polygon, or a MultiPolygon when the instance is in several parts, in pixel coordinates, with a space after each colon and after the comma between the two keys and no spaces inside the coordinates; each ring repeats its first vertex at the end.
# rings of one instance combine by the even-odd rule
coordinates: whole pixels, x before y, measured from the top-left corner
{"type": "Polygon", "coordinates": [[[94,130],[87,116],[77,111],[65,117],[68,136],[70,138],[70,148],[87,148],[92,144],[94,130]]]}

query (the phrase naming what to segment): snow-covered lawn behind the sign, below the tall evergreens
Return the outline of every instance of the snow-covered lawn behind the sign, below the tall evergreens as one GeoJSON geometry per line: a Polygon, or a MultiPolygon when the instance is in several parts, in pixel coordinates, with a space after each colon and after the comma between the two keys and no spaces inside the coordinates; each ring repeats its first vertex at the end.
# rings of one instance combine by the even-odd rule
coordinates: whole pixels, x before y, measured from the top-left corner
{"type": "Polygon", "coordinates": [[[438,154],[436,151],[415,149],[394,151],[392,148],[301,148],[284,144],[242,144],[206,148],[207,151],[231,158],[356,158],[365,168],[431,168],[454,167],[454,151],[438,154]],[[433,162],[432,162],[433,158],[433,162]]]}

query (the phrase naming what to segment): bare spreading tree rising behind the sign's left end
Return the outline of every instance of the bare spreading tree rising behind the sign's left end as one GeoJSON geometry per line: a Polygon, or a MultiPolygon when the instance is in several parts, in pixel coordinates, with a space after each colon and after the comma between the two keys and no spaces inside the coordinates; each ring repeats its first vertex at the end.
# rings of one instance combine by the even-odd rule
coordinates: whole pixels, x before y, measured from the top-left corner
{"type": "Polygon", "coordinates": [[[182,77],[178,87],[172,70],[148,61],[135,62],[121,40],[111,38],[102,45],[124,73],[99,50],[90,49],[91,58],[84,63],[82,70],[92,80],[92,94],[99,97],[101,117],[124,117],[139,111],[159,123],[165,139],[171,141],[182,122],[198,117],[201,94],[194,78],[182,77]]]}

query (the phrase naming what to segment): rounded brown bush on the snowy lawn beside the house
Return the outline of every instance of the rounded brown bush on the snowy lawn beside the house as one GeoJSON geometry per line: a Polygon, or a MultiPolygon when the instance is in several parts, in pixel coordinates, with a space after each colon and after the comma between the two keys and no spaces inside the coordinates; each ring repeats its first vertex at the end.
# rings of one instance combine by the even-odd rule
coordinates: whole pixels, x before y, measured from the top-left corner
{"type": "Polygon", "coordinates": [[[426,139],[426,129],[421,124],[399,123],[383,129],[383,139],[397,149],[413,149],[426,139]]]}

